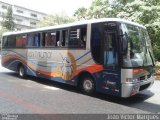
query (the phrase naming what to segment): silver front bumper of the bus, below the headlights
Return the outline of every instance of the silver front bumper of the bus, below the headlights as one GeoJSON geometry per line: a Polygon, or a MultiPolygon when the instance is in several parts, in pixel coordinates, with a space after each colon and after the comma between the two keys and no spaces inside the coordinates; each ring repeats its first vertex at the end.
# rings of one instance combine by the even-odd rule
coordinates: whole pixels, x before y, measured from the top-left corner
{"type": "Polygon", "coordinates": [[[122,83],[121,97],[130,97],[139,93],[140,91],[143,91],[151,87],[154,83],[154,80],[154,77],[151,77],[147,80],[140,81],[137,83],[122,83]]]}

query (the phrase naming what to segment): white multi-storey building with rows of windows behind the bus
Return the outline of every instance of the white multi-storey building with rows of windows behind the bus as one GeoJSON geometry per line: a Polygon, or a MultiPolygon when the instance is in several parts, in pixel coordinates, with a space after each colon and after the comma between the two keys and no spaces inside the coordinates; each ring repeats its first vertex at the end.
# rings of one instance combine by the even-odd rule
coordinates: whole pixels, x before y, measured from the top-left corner
{"type": "Polygon", "coordinates": [[[13,10],[13,18],[16,24],[15,30],[35,28],[37,22],[46,16],[46,14],[42,12],[0,1],[0,21],[3,20],[3,16],[7,13],[8,7],[12,7],[13,10]]]}

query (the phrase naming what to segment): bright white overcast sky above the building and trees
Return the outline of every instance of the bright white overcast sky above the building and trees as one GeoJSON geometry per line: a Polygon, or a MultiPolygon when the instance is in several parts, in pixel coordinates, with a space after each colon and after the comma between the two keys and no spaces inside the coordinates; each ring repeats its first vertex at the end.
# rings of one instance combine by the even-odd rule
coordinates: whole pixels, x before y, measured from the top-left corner
{"type": "Polygon", "coordinates": [[[92,0],[0,0],[10,4],[22,6],[28,9],[47,14],[65,13],[69,16],[79,7],[89,7],[92,0]]]}

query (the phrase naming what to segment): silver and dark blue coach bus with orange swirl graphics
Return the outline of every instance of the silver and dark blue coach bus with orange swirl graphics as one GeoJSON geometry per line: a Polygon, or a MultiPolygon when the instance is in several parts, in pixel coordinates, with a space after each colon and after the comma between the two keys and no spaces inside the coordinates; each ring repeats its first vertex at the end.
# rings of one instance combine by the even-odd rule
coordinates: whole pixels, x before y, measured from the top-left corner
{"type": "Polygon", "coordinates": [[[95,92],[130,97],[154,83],[155,62],[144,26],[103,18],[8,32],[2,66],[95,92]]]}

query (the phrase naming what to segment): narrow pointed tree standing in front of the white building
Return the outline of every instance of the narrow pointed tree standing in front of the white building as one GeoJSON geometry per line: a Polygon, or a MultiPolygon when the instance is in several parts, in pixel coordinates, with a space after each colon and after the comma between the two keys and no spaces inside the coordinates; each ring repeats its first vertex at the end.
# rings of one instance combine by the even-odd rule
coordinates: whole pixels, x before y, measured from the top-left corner
{"type": "Polygon", "coordinates": [[[13,11],[12,7],[8,7],[7,14],[4,15],[2,26],[9,31],[13,31],[15,28],[14,18],[13,18],[13,11]]]}

